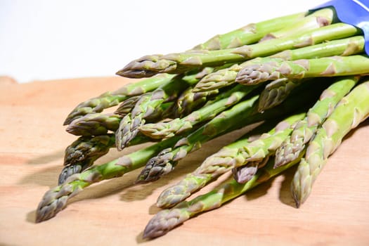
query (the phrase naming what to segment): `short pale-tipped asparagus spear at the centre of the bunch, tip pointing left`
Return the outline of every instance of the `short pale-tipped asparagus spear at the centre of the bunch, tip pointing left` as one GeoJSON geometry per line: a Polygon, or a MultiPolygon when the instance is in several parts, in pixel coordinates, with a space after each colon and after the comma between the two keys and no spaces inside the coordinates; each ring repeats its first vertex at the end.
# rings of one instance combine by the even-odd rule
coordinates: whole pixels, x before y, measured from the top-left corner
{"type": "Polygon", "coordinates": [[[176,118],[170,122],[144,124],[139,129],[146,136],[150,136],[150,138],[169,138],[181,134],[183,131],[191,129],[195,124],[214,118],[220,112],[238,103],[254,89],[254,86],[235,86],[221,95],[218,100],[214,100],[209,105],[195,110],[186,117],[176,118]]]}

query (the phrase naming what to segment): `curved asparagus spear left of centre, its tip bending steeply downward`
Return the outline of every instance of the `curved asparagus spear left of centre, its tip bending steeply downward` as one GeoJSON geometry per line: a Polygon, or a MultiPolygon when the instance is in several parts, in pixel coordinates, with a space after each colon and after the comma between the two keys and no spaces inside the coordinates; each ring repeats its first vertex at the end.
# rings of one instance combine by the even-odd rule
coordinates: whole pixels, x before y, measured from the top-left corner
{"type": "Polygon", "coordinates": [[[129,144],[129,141],[137,135],[138,127],[145,124],[145,118],[150,116],[155,108],[164,102],[173,101],[179,93],[197,83],[198,80],[198,74],[178,75],[171,82],[164,84],[155,91],[143,94],[131,112],[119,122],[119,127],[115,131],[117,149],[122,150],[129,144]]]}

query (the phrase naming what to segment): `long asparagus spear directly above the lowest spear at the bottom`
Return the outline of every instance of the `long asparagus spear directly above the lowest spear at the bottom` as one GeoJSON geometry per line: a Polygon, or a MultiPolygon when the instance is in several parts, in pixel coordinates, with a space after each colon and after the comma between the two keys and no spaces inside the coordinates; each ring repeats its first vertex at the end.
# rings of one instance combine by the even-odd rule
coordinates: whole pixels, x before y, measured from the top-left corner
{"type": "MultiPolygon", "coordinates": [[[[219,152],[207,157],[192,174],[188,174],[175,186],[164,190],[157,198],[157,206],[172,207],[213,179],[235,167],[241,167],[247,162],[254,162],[254,164],[263,162],[266,157],[273,155],[273,151],[278,148],[284,138],[287,138],[292,131],[291,125],[302,117],[304,117],[304,114],[292,115],[292,117],[288,117],[277,124],[268,133],[264,133],[265,129],[271,128],[269,127],[270,123],[266,124],[266,126],[256,129],[257,133],[264,133],[260,137],[255,138],[255,132],[252,131],[251,134],[246,134],[240,140],[221,148],[219,152]]],[[[257,171],[257,167],[254,171],[257,171]]]]}

